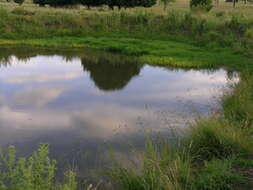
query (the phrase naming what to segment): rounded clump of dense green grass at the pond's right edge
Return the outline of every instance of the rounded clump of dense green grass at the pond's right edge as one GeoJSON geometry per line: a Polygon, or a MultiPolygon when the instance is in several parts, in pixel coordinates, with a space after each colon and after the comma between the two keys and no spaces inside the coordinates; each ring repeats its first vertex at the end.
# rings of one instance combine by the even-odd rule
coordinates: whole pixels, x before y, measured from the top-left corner
{"type": "Polygon", "coordinates": [[[252,153],[252,137],[241,128],[216,118],[199,120],[183,140],[192,158],[199,163],[252,153]]]}

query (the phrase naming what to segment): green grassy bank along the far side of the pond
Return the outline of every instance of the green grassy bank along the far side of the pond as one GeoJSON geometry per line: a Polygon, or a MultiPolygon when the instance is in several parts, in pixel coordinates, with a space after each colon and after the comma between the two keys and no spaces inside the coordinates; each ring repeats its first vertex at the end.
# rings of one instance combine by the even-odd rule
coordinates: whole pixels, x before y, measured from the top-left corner
{"type": "Polygon", "coordinates": [[[175,67],[251,67],[253,17],[243,12],[42,10],[1,8],[0,45],[90,47],[175,67]]]}

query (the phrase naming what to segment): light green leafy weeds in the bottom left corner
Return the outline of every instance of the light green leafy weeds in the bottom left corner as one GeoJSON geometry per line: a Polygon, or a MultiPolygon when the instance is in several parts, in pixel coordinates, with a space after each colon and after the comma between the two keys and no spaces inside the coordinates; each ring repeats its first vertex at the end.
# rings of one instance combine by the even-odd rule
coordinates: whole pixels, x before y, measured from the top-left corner
{"type": "Polygon", "coordinates": [[[31,157],[17,158],[13,146],[0,152],[1,190],[76,190],[75,173],[66,173],[66,183],[55,183],[56,161],[48,157],[49,146],[41,144],[31,157]]]}

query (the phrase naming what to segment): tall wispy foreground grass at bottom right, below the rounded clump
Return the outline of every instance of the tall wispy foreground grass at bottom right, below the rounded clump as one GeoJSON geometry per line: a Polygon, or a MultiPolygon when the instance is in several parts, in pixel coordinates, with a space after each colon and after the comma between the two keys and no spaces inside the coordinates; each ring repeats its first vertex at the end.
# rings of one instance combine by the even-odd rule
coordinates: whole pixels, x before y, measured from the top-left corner
{"type": "MultiPolygon", "coordinates": [[[[209,146],[215,149],[215,144],[209,146]]],[[[191,151],[187,146],[175,148],[148,141],[143,165],[138,164],[138,170],[116,162],[105,175],[111,178],[115,189],[122,190],[235,190],[248,186],[246,178],[233,172],[236,157],[230,154],[199,163],[194,157],[197,153],[192,155],[191,151]]]]}

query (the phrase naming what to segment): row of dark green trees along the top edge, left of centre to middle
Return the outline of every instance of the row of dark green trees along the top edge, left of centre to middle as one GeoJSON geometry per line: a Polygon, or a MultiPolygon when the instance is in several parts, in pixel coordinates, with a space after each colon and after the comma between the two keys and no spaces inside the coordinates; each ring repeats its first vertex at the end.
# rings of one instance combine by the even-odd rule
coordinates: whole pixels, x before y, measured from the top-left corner
{"type": "Polygon", "coordinates": [[[108,5],[111,9],[115,6],[121,9],[130,7],[151,7],[156,4],[156,0],[33,0],[33,2],[39,6],[49,5],[52,7],[84,5],[90,8],[108,5]]]}

